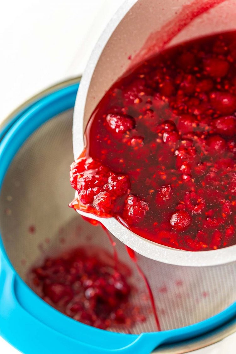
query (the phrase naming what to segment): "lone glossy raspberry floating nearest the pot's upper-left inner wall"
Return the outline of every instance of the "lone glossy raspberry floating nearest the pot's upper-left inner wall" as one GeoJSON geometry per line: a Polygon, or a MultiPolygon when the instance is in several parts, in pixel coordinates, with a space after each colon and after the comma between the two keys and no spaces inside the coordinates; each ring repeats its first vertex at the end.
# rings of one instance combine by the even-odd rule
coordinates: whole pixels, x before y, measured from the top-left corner
{"type": "Polygon", "coordinates": [[[116,133],[123,133],[135,126],[134,119],[129,115],[108,114],[106,117],[109,127],[116,133]]]}

